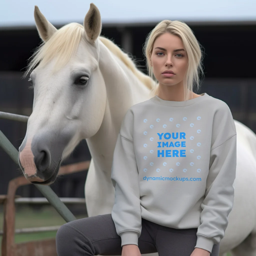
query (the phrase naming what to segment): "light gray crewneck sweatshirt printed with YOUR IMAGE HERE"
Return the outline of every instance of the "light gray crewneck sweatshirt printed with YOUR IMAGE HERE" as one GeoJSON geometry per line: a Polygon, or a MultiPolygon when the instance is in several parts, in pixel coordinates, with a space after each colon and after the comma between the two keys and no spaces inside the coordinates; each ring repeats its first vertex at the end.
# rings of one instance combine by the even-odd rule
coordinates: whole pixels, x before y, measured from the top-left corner
{"type": "Polygon", "coordinates": [[[236,127],[228,105],[207,93],[188,101],[155,96],[125,114],[111,180],[112,219],[125,244],[138,245],[141,218],[198,228],[197,248],[220,242],[233,206],[236,127]]]}

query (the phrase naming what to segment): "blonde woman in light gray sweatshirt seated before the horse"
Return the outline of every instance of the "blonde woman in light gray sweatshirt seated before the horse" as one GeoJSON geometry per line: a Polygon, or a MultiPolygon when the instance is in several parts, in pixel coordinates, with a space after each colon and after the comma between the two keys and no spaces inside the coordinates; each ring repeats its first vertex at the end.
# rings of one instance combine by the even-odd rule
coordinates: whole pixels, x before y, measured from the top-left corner
{"type": "Polygon", "coordinates": [[[226,103],[199,88],[201,50],[183,22],[145,44],[155,96],[125,114],[114,150],[111,214],[69,222],[59,256],[217,256],[233,206],[236,129],[226,103]]]}

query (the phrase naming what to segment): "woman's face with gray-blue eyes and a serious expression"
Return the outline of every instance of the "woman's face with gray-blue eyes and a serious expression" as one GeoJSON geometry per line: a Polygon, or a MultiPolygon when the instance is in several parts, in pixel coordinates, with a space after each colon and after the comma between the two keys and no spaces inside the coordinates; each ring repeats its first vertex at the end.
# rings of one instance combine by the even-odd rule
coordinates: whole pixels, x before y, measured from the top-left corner
{"type": "Polygon", "coordinates": [[[170,33],[159,36],[153,45],[150,65],[159,84],[175,85],[183,81],[188,58],[180,37],[170,33]],[[164,73],[166,71],[174,74],[164,73]]]}

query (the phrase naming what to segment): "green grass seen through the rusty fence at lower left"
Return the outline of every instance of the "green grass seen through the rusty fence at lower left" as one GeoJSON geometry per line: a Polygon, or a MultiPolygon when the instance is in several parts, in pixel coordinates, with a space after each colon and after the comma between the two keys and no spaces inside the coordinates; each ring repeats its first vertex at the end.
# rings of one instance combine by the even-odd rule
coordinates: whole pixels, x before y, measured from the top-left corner
{"type": "MultiPolygon", "coordinates": [[[[76,216],[77,219],[85,218],[87,215],[76,216]]],[[[42,208],[40,211],[33,211],[31,208],[25,207],[16,212],[15,228],[32,228],[45,226],[60,226],[66,221],[58,214],[58,212],[50,206],[42,208]]],[[[0,212],[0,230],[3,230],[3,212],[0,212]]],[[[27,234],[16,234],[15,243],[54,238],[57,231],[35,232],[27,234]]],[[[0,255],[1,255],[0,236],[0,255]]]]}

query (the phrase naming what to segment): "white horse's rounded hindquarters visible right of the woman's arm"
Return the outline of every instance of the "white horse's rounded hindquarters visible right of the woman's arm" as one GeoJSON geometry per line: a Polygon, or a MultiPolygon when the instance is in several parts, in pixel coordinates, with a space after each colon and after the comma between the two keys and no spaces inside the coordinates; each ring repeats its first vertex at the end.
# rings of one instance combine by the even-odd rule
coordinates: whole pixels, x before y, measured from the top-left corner
{"type": "Polygon", "coordinates": [[[220,255],[256,255],[256,135],[247,126],[234,121],[237,131],[237,168],[234,203],[228,227],[220,242],[220,255]]]}

